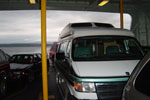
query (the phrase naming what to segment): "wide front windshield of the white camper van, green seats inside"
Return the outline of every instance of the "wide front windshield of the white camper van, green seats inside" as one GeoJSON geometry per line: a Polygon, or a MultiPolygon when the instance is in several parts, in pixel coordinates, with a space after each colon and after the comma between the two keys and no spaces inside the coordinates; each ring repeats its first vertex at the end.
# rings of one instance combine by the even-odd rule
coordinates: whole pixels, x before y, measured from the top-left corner
{"type": "Polygon", "coordinates": [[[76,38],[72,50],[74,61],[138,60],[143,57],[137,40],[124,36],[76,38]]]}

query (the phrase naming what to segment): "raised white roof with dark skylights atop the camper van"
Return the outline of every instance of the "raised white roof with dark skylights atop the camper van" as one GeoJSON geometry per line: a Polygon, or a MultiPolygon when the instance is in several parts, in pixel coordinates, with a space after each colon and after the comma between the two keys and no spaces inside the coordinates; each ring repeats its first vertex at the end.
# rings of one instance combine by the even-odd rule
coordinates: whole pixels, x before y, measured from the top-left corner
{"type": "Polygon", "coordinates": [[[128,30],[114,28],[113,25],[107,23],[70,23],[59,34],[59,40],[66,37],[81,37],[93,35],[117,35],[117,36],[130,36],[134,34],[128,30]]]}

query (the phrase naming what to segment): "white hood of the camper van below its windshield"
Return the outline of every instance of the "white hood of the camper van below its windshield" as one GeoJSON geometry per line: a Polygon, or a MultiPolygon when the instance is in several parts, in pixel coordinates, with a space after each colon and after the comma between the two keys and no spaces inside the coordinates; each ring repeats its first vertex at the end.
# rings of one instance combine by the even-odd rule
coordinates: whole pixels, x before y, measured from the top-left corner
{"type": "Polygon", "coordinates": [[[128,76],[139,60],[74,62],[74,71],[79,77],[128,76]]]}

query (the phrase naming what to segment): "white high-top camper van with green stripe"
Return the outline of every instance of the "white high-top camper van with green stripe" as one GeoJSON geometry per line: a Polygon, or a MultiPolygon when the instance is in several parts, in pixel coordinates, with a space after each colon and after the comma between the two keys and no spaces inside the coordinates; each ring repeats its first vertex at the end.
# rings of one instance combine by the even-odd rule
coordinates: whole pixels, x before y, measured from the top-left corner
{"type": "Polygon", "coordinates": [[[144,55],[131,31],[110,24],[71,23],[58,44],[56,82],[63,100],[120,100],[144,55]]]}

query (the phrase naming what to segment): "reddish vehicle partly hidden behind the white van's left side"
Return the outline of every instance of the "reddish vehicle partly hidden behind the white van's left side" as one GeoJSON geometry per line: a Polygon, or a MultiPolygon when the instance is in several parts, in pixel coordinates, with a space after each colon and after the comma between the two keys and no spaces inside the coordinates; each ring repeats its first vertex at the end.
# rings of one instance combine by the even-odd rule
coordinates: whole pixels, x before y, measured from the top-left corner
{"type": "Polygon", "coordinates": [[[51,66],[54,66],[54,56],[56,54],[57,46],[58,46],[57,42],[53,42],[49,51],[49,63],[51,66]]]}

